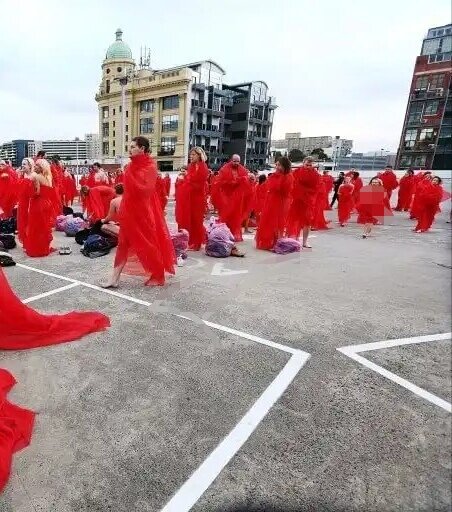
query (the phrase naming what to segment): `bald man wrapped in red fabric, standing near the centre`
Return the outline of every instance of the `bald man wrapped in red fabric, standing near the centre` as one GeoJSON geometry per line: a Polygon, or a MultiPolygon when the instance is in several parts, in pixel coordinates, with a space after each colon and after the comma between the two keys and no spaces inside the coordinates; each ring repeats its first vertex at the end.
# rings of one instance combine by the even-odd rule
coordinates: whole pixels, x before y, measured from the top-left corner
{"type": "Polygon", "coordinates": [[[241,242],[242,223],[246,217],[245,197],[250,194],[251,185],[248,170],[240,164],[240,155],[232,155],[223,165],[218,184],[221,191],[220,222],[227,225],[236,242],[241,242]]]}

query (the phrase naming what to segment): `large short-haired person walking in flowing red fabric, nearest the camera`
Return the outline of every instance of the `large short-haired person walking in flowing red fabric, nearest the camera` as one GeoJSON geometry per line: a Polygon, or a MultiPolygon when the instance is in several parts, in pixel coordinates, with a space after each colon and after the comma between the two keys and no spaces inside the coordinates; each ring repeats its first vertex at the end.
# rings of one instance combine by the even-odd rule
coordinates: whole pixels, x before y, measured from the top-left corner
{"type": "Polygon", "coordinates": [[[165,272],[175,273],[176,255],[156,191],[157,165],[149,154],[149,139],[134,137],[129,155],[113,274],[104,287],[117,288],[123,270],[148,276],[146,286],[163,286],[165,272]]]}

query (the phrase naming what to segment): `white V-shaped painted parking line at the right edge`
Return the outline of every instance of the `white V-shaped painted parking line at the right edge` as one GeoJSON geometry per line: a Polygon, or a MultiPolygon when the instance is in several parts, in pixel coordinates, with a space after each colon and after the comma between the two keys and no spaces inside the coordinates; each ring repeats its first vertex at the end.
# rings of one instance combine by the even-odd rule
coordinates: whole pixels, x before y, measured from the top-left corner
{"type": "Polygon", "coordinates": [[[437,405],[438,407],[441,407],[447,412],[452,412],[452,404],[450,404],[446,400],[443,400],[439,396],[436,396],[433,393],[430,393],[429,391],[426,391],[425,389],[416,386],[412,382],[400,377],[399,375],[396,375],[395,373],[390,372],[389,370],[386,370],[386,368],[383,368],[382,366],[372,361],[369,361],[365,357],[359,355],[360,352],[382,350],[385,348],[401,347],[404,345],[413,345],[416,343],[427,343],[429,341],[441,341],[450,339],[451,333],[448,332],[442,334],[431,334],[427,336],[414,336],[412,338],[401,338],[397,340],[376,341],[374,343],[365,343],[363,345],[349,345],[347,347],[339,347],[337,350],[339,350],[339,352],[342,352],[346,356],[350,357],[354,361],[362,364],[366,368],[369,368],[370,370],[373,370],[374,372],[382,375],[383,377],[391,380],[392,382],[395,382],[399,386],[408,389],[409,391],[423,398],[424,400],[427,400],[428,402],[437,405]]]}

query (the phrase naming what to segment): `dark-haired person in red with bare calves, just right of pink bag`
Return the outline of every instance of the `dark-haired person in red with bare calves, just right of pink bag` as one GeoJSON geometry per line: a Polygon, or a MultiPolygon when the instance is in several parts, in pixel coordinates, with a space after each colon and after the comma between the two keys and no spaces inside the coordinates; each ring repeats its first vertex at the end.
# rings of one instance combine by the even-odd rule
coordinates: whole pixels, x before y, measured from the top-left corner
{"type": "Polygon", "coordinates": [[[304,159],[303,166],[293,172],[292,204],[287,218],[287,236],[300,237],[303,230],[303,247],[308,245],[309,232],[314,220],[314,209],[317,192],[320,185],[320,175],[313,167],[314,159],[310,156],[304,159]]]}

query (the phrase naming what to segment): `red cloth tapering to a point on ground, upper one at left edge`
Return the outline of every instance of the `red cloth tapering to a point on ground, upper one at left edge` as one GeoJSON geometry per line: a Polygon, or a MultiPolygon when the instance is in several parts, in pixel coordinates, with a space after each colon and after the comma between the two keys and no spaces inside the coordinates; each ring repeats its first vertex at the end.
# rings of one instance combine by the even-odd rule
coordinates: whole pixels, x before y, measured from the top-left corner
{"type": "Polygon", "coordinates": [[[105,329],[101,313],[72,312],[42,315],[17,297],[0,268],[0,350],[23,350],[73,341],[105,329]]]}

